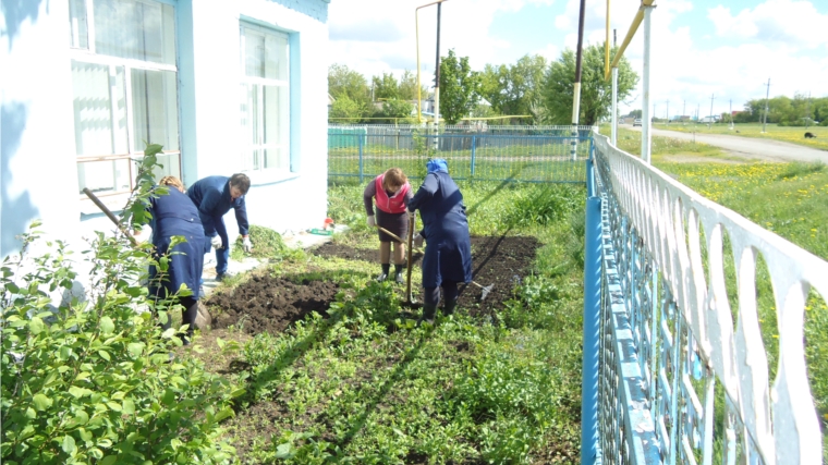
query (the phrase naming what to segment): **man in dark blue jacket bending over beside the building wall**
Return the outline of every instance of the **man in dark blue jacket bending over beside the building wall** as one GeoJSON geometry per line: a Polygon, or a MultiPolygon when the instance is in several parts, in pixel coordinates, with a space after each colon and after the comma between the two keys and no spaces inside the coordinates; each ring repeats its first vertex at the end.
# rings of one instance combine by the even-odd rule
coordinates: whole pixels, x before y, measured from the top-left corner
{"type": "Polygon", "coordinates": [[[223,216],[231,208],[235,210],[235,221],[239,222],[244,252],[251,252],[253,248],[248,235],[247,207],[244,205],[244,196],[249,188],[251,179],[246,174],[236,173],[230,178],[207,176],[196,181],[187,189],[187,195],[198,208],[204,235],[210,237],[210,245],[216,249],[216,279],[218,281],[223,281],[229,277],[227,268],[230,261],[230,240],[223,216]]]}

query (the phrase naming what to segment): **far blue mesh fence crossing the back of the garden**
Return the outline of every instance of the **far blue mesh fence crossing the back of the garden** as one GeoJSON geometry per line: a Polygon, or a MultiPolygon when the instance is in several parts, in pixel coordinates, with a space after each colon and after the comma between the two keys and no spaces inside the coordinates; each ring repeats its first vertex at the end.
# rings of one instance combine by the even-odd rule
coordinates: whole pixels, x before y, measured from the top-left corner
{"type": "Polygon", "coordinates": [[[372,131],[365,127],[328,130],[328,179],[360,183],[391,167],[413,179],[426,173],[433,157],[445,158],[455,180],[585,182],[589,133],[574,138],[576,157],[570,156],[573,137],[551,135],[439,135],[413,131],[372,131]],[[436,148],[435,148],[436,147],[436,148]]]}

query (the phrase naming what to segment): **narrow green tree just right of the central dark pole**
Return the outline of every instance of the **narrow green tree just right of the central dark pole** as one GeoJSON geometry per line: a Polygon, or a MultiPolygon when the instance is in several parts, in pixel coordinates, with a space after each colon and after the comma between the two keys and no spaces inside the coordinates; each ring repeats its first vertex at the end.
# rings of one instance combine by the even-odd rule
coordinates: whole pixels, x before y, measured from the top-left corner
{"type": "Polygon", "coordinates": [[[470,114],[480,99],[480,76],[472,71],[468,57],[458,58],[454,50],[440,60],[440,115],[456,124],[470,114]]]}

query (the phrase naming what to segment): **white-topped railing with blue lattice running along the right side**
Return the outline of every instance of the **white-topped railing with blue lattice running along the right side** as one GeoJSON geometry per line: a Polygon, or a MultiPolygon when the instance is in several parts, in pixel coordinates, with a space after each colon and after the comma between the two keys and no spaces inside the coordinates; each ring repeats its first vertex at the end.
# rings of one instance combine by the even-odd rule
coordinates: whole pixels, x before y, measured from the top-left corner
{"type": "Polygon", "coordinates": [[[809,292],[828,296],[828,262],[600,135],[595,166],[599,236],[587,224],[585,276],[597,266],[600,284],[585,295],[584,392],[596,408],[582,421],[597,443],[582,463],[821,463],[803,327],[809,292]],[[763,260],[778,321],[772,380],[763,260]]]}

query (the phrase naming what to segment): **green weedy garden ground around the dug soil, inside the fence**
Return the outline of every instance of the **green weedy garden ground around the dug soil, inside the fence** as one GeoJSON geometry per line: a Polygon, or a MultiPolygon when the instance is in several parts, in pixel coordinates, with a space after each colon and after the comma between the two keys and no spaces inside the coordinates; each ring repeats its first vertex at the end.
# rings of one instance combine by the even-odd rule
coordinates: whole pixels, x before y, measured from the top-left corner
{"type": "MultiPolygon", "coordinates": [[[[363,188],[331,185],[329,216],[352,227],[337,241],[376,247],[363,188]]],[[[233,376],[247,393],[227,435],[241,463],[579,461],[584,188],[461,188],[473,234],[544,244],[509,308],[497,321],[461,309],[416,328],[399,290],[372,279],[375,264],[308,254],[271,266],[283,277],[338,273],[342,292],[327,319],[235,344],[233,376]]]]}

